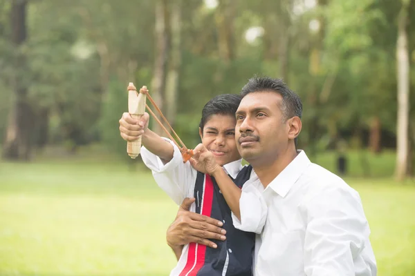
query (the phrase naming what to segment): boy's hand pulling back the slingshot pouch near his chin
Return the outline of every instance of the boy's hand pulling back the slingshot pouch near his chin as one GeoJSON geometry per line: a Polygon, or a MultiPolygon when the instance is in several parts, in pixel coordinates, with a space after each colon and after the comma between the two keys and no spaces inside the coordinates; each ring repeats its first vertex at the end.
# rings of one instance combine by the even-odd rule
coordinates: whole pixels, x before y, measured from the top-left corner
{"type": "Polygon", "coordinates": [[[203,144],[197,145],[193,152],[194,155],[189,161],[195,170],[213,175],[216,170],[221,169],[221,166],[216,163],[213,153],[203,144]]]}

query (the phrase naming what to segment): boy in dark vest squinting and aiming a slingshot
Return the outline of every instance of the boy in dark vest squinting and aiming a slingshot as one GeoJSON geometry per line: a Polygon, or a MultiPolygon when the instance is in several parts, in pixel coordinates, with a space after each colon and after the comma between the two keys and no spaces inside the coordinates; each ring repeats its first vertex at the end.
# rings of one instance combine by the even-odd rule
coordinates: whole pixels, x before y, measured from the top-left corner
{"type": "MultiPolygon", "coordinates": [[[[199,125],[203,146],[220,164],[225,177],[232,177],[232,186],[239,193],[252,170],[250,166],[241,166],[234,138],[234,113],[240,100],[239,95],[231,94],[214,97],[204,106],[199,125]]],[[[189,162],[183,163],[181,152],[172,141],[159,137],[147,128],[148,119],[147,113],[139,121],[124,113],[120,119],[121,136],[133,141],[142,135],[142,160],[152,170],[158,186],[177,204],[181,204],[186,197],[194,197],[189,205],[195,215],[199,213],[217,219],[216,226],[199,229],[196,235],[203,233],[203,230],[217,230],[218,226],[223,226],[219,230],[220,241],[209,244],[213,248],[195,243],[173,247],[178,264],[170,275],[252,275],[255,235],[233,226],[230,208],[214,177],[195,170],[189,162]]],[[[212,218],[209,221],[213,221],[212,218]]]]}

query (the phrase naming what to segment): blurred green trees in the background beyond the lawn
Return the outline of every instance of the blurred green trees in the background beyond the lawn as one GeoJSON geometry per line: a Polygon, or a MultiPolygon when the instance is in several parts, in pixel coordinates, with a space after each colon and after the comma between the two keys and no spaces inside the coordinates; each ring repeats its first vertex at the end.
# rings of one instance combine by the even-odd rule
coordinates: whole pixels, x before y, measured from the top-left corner
{"type": "Polygon", "coordinates": [[[403,179],[415,157],[410,14],[413,0],[0,0],[2,157],[101,144],[128,161],[129,81],[193,147],[204,103],[257,74],[302,97],[311,156],[396,150],[403,179]]]}

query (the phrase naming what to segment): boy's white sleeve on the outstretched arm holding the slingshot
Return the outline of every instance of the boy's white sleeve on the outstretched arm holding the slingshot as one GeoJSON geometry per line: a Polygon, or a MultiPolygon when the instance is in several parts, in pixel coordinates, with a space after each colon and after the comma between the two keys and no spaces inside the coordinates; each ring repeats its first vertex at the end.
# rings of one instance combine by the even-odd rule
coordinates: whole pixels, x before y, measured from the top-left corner
{"type": "Polygon", "coordinates": [[[180,205],[185,197],[193,197],[197,172],[189,162],[183,163],[181,152],[173,141],[164,137],[163,139],[173,145],[174,153],[172,160],[163,164],[160,157],[151,153],[145,146],[142,146],[142,161],[151,170],[157,185],[176,204],[180,205]]]}

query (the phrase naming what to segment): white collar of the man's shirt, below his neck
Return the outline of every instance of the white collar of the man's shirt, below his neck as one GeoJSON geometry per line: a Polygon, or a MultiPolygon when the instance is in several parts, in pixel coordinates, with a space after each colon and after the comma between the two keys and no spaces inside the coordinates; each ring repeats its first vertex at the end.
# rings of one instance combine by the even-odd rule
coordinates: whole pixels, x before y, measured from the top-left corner
{"type": "Polygon", "coordinates": [[[270,187],[275,193],[285,197],[300,175],[302,175],[302,172],[310,164],[311,161],[308,159],[306,152],[304,150],[297,150],[297,157],[266,188],[270,187]]]}

